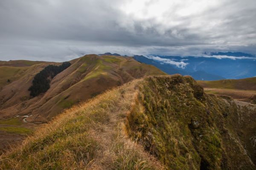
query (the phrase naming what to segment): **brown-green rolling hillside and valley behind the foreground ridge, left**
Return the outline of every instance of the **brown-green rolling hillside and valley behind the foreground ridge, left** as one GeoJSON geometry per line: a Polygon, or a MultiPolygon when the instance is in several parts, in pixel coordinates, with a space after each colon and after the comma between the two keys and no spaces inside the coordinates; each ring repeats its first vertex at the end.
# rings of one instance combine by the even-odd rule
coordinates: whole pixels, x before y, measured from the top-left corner
{"type": "Polygon", "coordinates": [[[131,57],[90,54],[69,62],[71,65],[55,77],[48,76],[49,89],[35,97],[28,90],[35,75],[49,65],[62,63],[0,62],[0,149],[9,142],[23,139],[23,134],[30,133],[74,104],[136,78],[165,75],[158,68],[131,57]]]}

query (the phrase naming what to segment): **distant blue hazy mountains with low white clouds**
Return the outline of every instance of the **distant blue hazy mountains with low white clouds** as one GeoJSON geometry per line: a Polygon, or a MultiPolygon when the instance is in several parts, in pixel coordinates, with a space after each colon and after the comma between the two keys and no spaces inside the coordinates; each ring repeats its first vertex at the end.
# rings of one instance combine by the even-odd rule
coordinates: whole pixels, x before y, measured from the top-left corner
{"type": "Polygon", "coordinates": [[[134,59],[154,65],[167,74],[190,75],[197,80],[242,79],[256,76],[256,57],[241,52],[210,53],[202,57],[135,55],[134,59]]]}

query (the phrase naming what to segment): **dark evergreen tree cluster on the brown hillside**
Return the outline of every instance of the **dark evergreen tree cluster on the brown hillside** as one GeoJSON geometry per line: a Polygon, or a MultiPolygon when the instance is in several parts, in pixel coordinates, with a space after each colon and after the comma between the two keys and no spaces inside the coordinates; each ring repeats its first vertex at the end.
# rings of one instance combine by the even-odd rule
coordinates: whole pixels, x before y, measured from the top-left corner
{"type": "Polygon", "coordinates": [[[38,96],[45,93],[50,88],[50,82],[53,77],[70,66],[70,62],[63,62],[62,65],[48,65],[42,71],[35,75],[32,86],[28,89],[30,96],[38,96]]]}

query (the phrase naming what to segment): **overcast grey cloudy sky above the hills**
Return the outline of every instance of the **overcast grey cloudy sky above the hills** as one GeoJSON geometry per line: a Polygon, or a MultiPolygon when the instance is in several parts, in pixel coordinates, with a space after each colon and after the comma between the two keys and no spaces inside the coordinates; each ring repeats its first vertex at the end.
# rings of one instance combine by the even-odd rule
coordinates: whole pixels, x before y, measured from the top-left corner
{"type": "Polygon", "coordinates": [[[0,60],[218,51],[256,55],[256,0],[0,0],[0,60]]]}

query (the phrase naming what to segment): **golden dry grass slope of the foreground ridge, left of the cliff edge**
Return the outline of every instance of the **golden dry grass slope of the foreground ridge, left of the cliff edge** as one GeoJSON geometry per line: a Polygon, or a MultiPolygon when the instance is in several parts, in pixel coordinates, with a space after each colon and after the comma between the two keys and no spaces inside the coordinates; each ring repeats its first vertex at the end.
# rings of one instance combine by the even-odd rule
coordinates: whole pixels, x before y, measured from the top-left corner
{"type": "Polygon", "coordinates": [[[164,167],[125,134],[134,80],[74,106],[0,156],[0,169],[158,170],[164,167]]]}

